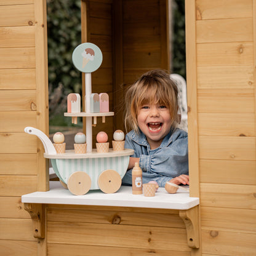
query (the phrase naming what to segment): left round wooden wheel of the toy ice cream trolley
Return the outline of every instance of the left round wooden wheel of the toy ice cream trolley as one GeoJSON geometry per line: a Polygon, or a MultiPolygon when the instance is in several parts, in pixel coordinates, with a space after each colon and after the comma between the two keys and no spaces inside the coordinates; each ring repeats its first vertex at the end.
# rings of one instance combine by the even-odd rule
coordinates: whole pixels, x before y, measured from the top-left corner
{"type": "Polygon", "coordinates": [[[74,172],[68,178],[68,190],[76,196],[86,194],[91,184],[90,176],[86,172],[74,172]]]}

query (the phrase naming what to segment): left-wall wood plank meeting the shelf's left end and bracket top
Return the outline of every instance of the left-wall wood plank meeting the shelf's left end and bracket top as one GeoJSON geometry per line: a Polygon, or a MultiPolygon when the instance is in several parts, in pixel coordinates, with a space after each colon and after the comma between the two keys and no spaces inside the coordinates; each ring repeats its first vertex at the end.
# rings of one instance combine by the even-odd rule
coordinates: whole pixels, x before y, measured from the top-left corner
{"type": "Polygon", "coordinates": [[[0,197],[0,218],[30,218],[20,197],[0,197]]]}

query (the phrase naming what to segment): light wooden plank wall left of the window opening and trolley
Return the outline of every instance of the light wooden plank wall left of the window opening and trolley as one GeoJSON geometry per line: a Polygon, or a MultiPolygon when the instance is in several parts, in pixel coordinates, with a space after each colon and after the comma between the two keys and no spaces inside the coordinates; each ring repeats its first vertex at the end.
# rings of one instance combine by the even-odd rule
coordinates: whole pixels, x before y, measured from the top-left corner
{"type": "Polygon", "coordinates": [[[34,256],[30,215],[20,196],[47,190],[42,143],[48,130],[45,2],[0,1],[0,254],[34,256]],[[39,182],[40,180],[40,182],[39,182]]]}

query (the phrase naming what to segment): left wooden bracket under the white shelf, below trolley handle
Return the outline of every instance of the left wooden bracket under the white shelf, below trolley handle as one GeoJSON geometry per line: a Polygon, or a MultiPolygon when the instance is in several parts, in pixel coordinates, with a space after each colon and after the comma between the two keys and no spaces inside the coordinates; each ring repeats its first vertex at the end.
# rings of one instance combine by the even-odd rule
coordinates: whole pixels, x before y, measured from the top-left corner
{"type": "Polygon", "coordinates": [[[24,209],[30,214],[33,229],[34,238],[45,238],[45,205],[44,204],[30,204],[24,203],[24,209]]]}

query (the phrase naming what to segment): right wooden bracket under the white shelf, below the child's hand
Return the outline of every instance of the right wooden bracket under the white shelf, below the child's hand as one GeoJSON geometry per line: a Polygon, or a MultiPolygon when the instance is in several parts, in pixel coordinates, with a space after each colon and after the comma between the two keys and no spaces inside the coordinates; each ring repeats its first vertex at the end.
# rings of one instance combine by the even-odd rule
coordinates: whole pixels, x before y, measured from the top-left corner
{"type": "Polygon", "coordinates": [[[186,226],[188,246],[193,249],[199,248],[199,207],[195,206],[188,210],[180,210],[179,215],[186,226]]]}

